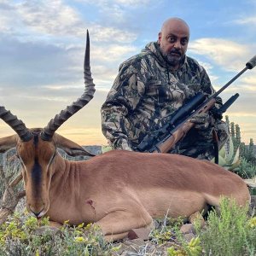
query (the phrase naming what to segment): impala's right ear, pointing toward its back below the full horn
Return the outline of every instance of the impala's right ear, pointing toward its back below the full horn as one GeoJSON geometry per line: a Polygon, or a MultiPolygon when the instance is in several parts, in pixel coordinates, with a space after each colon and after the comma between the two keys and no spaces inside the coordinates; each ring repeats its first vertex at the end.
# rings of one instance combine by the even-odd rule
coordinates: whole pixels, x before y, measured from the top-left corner
{"type": "Polygon", "coordinates": [[[60,134],[55,133],[53,140],[58,148],[61,148],[70,156],[95,156],[95,154],[90,153],[89,151],[82,148],[79,144],[74,143],[66,137],[62,137],[60,134]]]}

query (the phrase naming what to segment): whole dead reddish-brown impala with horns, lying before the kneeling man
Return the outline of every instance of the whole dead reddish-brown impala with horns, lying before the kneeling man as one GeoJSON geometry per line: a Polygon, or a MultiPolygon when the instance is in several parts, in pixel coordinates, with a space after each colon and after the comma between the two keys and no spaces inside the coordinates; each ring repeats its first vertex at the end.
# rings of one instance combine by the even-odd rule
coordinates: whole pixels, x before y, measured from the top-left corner
{"type": "Polygon", "coordinates": [[[26,207],[37,218],[48,215],[63,224],[96,223],[107,239],[120,239],[129,230],[147,227],[152,218],[189,217],[218,206],[221,195],[241,206],[250,200],[241,177],[208,161],[176,154],[113,150],[86,161],[64,160],[67,154],[89,154],[55,131],[90,102],[94,84],[90,73],[90,43],[84,57],[85,92],[44,129],[27,129],[0,107],[0,117],[16,135],[0,139],[0,152],[16,147],[26,189],[26,207]]]}

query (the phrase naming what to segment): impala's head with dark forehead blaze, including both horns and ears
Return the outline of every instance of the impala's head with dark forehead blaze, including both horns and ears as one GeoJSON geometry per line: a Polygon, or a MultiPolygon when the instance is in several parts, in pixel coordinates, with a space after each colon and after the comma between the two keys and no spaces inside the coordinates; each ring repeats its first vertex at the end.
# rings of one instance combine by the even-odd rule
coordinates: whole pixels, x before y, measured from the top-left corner
{"type": "Polygon", "coordinates": [[[0,118],[16,132],[13,136],[0,138],[0,153],[16,147],[25,183],[26,207],[28,212],[38,218],[49,210],[49,184],[58,163],[56,149],[62,148],[72,156],[93,156],[77,143],[55,133],[67,119],[90,102],[95,92],[95,84],[90,73],[88,31],[84,55],[84,84],[84,94],[61,113],[56,114],[44,129],[27,129],[20,119],[0,106],[0,118]]]}

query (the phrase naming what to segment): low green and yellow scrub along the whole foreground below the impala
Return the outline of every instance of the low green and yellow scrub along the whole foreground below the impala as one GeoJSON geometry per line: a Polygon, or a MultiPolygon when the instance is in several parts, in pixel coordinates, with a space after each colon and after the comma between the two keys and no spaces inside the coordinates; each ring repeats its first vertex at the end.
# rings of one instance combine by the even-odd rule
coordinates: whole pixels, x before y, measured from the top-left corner
{"type": "MultiPolygon", "coordinates": [[[[158,228],[151,232],[148,241],[154,245],[153,253],[147,253],[148,244],[145,244],[137,253],[127,255],[253,256],[256,253],[256,218],[248,217],[247,207],[238,207],[225,198],[220,214],[213,210],[205,226],[195,224],[196,235],[189,241],[180,231],[182,219],[165,218],[158,222],[158,228]]],[[[67,222],[61,230],[56,230],[48,224],[48,218],[38,222],[26,213],[15,212],[0,227],[0,255],[89,256],[123,252],[123,244],[105,242],[96,225],[70,227],[67,222]]]]}

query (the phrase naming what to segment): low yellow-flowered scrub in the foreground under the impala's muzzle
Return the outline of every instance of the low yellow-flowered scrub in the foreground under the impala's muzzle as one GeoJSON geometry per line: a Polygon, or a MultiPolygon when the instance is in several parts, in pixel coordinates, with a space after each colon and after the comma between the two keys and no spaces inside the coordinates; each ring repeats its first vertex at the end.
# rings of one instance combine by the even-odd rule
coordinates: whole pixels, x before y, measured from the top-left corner
{"type": "Polygon", "coordinates": [[[38,223],[37,218],[22,219],[15,213],[0,228],[0,255],[111,255],[114,247],[103,240],[96,225],[80,224],[61,230],[50,230],[47,218],[38,223]],[[39,228],[44,227],[44,230],[39,228]]]}

